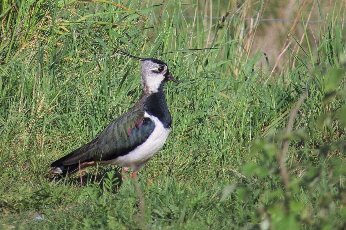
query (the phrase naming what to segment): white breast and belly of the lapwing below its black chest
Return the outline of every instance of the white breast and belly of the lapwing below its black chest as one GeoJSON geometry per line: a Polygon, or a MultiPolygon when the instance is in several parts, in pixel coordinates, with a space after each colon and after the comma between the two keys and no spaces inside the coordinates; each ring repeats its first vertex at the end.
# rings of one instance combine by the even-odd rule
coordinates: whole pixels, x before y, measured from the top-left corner
{"type": "Polygon", "coordinates": [[[150,118],[155,123],[155,128],[148,139],[133,151],[125,156],[119,156],[112,164],[121,167],[131,167],[138,171],[145,163],[152,159],[165,143],[171,128],[164,128],[157,117],[151,116],[145,112],[144,117],[150,118]]]}

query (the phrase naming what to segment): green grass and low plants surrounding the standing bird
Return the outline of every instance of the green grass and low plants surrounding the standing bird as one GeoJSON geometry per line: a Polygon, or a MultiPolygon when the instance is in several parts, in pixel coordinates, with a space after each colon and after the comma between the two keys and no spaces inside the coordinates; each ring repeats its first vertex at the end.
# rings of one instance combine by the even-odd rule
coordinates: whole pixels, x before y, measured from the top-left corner
{"type": "Polygon", "coordinates": [[[326,23],[302,25],[272,75],[252,46],[260,22],[233,2],[209,23],[183,17],[207,15],[197,1],[160,20],[151,1],[1,1],[1,228],[345,228],[345,8],[317,4],[326,23]],[[53,160],[138,99],[139,63],[114,43],[181,82],[165,86],[170,137],[137,180],[116,166],[83,170],[82,188],[51,178],[53,160]]]}

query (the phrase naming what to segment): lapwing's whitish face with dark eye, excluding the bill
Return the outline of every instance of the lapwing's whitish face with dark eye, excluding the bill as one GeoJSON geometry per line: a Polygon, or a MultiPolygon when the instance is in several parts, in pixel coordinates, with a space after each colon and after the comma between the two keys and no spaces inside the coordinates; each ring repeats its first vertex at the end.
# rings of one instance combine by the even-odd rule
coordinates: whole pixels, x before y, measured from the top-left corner
{"type": "Polygon", "coordinates": [[[151,60],[142,62],[142,86],[149,92],[157,92],[167,73],[165,64],[157,64],[151,60]]]}

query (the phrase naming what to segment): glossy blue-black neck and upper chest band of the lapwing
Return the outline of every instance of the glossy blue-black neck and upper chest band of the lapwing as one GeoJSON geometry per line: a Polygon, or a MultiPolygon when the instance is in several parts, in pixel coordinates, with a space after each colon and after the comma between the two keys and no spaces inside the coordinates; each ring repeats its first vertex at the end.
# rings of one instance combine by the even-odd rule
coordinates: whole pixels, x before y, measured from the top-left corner
{"type": "Polygon", "coordinates": [[[142,92],[144,99],[144,110],[149,115],[157,117],[163,124],[163,127],[170,128],[172,124],[171,114],[166,103],[165,93],[163,92],[163,83],[160,84],[156,92],[142,92]]]}

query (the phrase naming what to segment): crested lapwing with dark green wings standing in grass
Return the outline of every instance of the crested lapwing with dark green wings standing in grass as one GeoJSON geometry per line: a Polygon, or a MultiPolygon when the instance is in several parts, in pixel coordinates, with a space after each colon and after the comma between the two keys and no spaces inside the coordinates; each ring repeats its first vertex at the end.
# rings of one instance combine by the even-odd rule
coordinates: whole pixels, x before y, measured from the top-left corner
{"type": "Polygon", "coordinates": [[[137,103],[117,117],[89,143],[77,148],[51,164],[50,173],[65,176],[94,165],[118,165],[121,177],[129,168],[131,178],[151,160],[164,145],[172,119],[163,86],[168,81],[180,82],[170,74],[166,63],[155,58],[140,58],[118,50],[120,54],[138,59],[142,63],[142,93],[137,103]]]}

